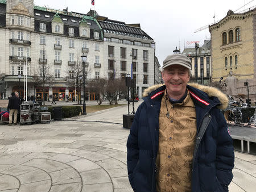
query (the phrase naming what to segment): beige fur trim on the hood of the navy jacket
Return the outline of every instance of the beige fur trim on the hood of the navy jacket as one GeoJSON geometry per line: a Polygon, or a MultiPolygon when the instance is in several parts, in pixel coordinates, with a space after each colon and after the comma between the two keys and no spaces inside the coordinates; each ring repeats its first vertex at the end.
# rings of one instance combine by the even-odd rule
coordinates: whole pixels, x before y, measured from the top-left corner
{"type": "MultiPolygon", "coordinates": [[[[143,92],[143,97],[147,97],[148,94],[156,89],[158,89],[160,86],[163,86],[165,84],[158,84],[158,85],[153,85],[151,87],[148,87],[147,89],[144,90],[143,92]]],[[[208,94],[209,97],[217,97],[218,100],[220,100],[221,105],[217,106],[218,108],[224,110],[226,107],[228,107],[229,99],[228,97],[222,93],[220,90],[218,90],[216,87],[210,87],[210,86],[204,86],[204,85],[199,85],[199,84],[188,84],[192,87],[195,87],[196,89],[199,89],[201,91],[204,91],[205,93],[208,94]]]]}

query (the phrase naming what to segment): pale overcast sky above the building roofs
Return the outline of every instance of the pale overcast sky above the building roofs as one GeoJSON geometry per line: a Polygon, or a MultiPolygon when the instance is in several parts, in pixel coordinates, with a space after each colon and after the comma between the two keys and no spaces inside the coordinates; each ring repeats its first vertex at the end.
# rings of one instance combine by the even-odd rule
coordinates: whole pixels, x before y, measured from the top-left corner
{"type": "MultiPolygon", "coordinates": [[[[251,0],[94,0],[94,2],[99,15],[125,23],[140,23],[142,30],[156,42],[156,56],[160,65],[167,55],[173,53],[176,46],[183,51],[187,41],[200,41],[200,46],[203,45],[205,37],[210,38],[208,28],[196,33],[194,31],[212,24],[214,15],[217,21],[224,18],[229,9],[239,12],[256,5],[255,1],[251,0]],[[245,4],[247,5],[244,7],[245,4]]],[[[91,0],[34,0],[34,4],[59,10],[68,7],[68,11],[83,14],[93,9],[91,0]]]]}

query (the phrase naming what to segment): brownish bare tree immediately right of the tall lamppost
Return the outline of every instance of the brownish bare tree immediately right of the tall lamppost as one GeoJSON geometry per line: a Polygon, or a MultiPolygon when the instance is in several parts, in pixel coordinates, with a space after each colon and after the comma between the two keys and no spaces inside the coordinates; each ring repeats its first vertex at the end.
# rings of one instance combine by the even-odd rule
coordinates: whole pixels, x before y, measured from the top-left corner
{"type": "Polygon", "coordinates": [[[106,100],[106,89],[108,80],[105,78],[95,78],[90,82],[90,90],[96,94],[98,105],[106,100]]]}

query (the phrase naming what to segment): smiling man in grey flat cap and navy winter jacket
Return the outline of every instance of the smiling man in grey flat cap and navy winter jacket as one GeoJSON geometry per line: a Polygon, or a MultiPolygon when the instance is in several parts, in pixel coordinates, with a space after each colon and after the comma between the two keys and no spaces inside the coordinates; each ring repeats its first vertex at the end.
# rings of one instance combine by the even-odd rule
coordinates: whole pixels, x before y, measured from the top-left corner
{"type": "Polygon", "coordinates": [[[185,55],[163,61],[165,85],[144,91],[127,140],[134,191],[228,191],[234,151],[220,108],[228,98],[216,88],[187,85],[185,55]]]}

